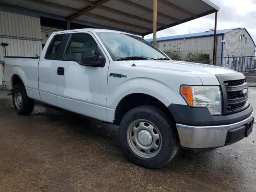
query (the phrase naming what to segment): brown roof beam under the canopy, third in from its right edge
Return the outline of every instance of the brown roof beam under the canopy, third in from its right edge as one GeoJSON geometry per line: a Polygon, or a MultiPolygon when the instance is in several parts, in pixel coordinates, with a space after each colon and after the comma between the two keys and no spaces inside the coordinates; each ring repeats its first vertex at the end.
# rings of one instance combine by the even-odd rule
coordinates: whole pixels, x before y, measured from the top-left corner
{"type": "MultiPolygon", "coordinates": [[[[73,0],[73,1],[80,2],[80,3],[86,4],[86,5],[90,5],[90,6],[94,5],[94,2],[89,1],[89,0],[73,0]]],[[[123,12],[123,11],[120,11],[120,10],[116,10],[116,9],[113,9],[113,8],[110,8],[110,7],[107,7],[107,6],[104,6],[104,5],[100,5],[97,8],[108,11],[108,12],[111,12],[111,13],[115,13],[115,14],[118,14],[118,15],[126,16],[128,18],[133,19],[132,14],[129,14],[129,13],[126,13],[126,12],[123,12]]],[[[142,18],[142,17],[139,17],[139,16],[134,16],[134,19],[145,22],[145,23],[149,23],[149,24],[152,24],[152,22],[153,22],[152,20],[145,19],[145,18],[142,18]]],[[[164,27],[164,28],[167,28],[167,25],[159,23],[159,22],[157,23],[157,25],[161,26],[161,27],[164,27]]]]}

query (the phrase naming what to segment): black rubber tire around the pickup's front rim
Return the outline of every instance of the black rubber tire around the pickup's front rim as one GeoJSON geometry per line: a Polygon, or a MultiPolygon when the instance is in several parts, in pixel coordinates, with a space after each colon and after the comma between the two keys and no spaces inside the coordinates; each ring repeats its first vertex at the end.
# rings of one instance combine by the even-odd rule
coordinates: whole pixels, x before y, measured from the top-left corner
{"type": "MultiPolygon", "coordinates": [[[[128,159],[146,168],[160,168],[165,166],[180,148],[174,120],[165,112],[154,106],[138,106],[127,112],[120,123],[119,139],[122,150],[128,159]],[[152,122],[160,132],[162,146],[153,157],[144,158],[139,156],[138,153],[136,154],[134,149],[132,149],[132,142],[130,142],[130,144],[128,142],[129,127],[134,125],[133,123],[136,122],[136,120],[148,120],[152,122]]],[[[134,146],[137,145],[134,144],[134,146]]]]}

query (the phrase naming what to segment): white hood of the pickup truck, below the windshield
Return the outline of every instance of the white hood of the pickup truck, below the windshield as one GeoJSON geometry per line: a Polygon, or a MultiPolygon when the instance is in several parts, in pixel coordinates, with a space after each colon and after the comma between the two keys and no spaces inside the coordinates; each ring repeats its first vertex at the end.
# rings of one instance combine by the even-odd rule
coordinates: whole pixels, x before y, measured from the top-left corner
{"type": "MultiPolygon", "coordinates": [[[[133,61],[127,61],[133,64],[133,61]]],[[[136,67],[148,68],[153,70],[170,70],[177,73],[188,73],[196,75],[200,78],[203,85],[218,85],[218,79],[215,75],[217,74],[232,74],[234,76],[238,72],[218,66],[212,66],[208,64],[191,63],[185,61],[174,61],[174,60],[135,60],[136,67]]],[[[245,78],[243,74],[242,78],[245,78]]]]}

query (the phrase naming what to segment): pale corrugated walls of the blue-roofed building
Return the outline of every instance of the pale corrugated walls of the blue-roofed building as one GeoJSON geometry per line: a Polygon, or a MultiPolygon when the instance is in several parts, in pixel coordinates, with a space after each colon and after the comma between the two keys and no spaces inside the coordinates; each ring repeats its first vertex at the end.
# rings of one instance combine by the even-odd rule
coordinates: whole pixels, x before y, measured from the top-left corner
{"type": "MultiPolygon", "coordinates": [[[[203,54],[210,54],[210,61],[213,59],[213,42],[214,36],[185,38],[179,40],[167,40],[158,42],[159,48],[162,51],[172,50],[178,51],[180,60],[184,61],[186,55],[189,52],[199,52],[203,54]]],[[[255,60],[255,45],[250,35],[244,29],[236,29],[226,34],[217,35],[216,42],[216,65],[226,68],[236,68],[238,71],[246,71],[250,68],[250,64],[253,64],[255,60]],[[240,34],[243,36],[242,42],[239,41],[240,34]],[[247,43],[244,43],[244,38],[247,37],[247,43]],[[225,42],[222,42],[222,39],[225,42]],[[222,48],[223,47],[223,48],[222,48]],[[226,64],[226,55],[230,57],[240,57],[240,65],[237,62],[237,66],[232,65],[232,58],[228,60],[226,64]],[[244,58],[244,64],[242,65],[242,57],[244,58]],[[247,66],[246,66],[247,65],[247,66]]],[[[236,59],[238,60],[238,59],[236,59]]],[[[210,62],[209,64],[212,64],[210,62]]]]}

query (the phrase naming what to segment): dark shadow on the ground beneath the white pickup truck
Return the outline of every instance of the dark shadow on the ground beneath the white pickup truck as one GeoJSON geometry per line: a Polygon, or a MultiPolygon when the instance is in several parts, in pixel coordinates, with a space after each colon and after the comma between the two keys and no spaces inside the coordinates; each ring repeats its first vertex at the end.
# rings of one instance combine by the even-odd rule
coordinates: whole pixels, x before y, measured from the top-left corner
{"type": "MultiPolygon", "coordinates": [[[[116,150],[120,150],[118,141],[119,126],[95,120],[80,114],[70,112],[58,107],[54,107],[42,102],[36,102],[34,111],[31,115],[42,115],[50,118],[52,122],[64,124],[67,134],[85,139],[87,136],[97,137],[112,144],[116,150]]],[[[176,154],[175,159],[192,161],[195,157],[203,157],[211,154],[212,151],[194,153],[190,150],[181,149],[176,154]]]]}

